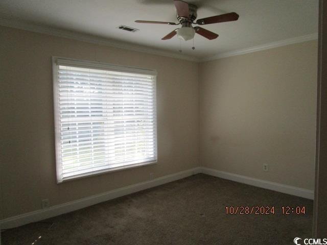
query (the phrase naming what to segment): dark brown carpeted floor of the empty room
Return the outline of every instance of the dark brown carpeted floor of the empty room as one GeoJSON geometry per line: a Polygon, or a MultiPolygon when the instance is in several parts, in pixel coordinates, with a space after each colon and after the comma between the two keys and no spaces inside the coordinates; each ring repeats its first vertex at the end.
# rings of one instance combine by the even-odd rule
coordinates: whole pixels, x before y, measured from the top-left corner
{"type": "Polygon", "coordinates": [[[198,174],[1,237],[3,245],[294,244],[311,237],[312,210],[308,199],[198,174]],[[226,206],[275,206],[275,214],[227,215],[226,206]],[[305,206],[306,214],[283,215],[282,206],[305,206]]]}

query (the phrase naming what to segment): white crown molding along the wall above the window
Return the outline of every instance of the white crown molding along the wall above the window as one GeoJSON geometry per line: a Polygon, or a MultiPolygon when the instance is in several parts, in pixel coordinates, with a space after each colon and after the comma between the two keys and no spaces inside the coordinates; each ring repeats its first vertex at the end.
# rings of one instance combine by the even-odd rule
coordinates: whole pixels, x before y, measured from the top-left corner
{"type": "Polygon", "coordinates": [[[0,26],[11,27],[11,28],[21,29],[21,30],[36,32],[36,33],[42,33],[42,34],[47,34],[47,35],[52,35],[52,36],[57,36],[57,37],[69,38],[69,39],[74,39],[74,40],[78,40],[78,41],[89,42],[89,43],[94,43],[94,44],[99,44],[99,45],[110,46],[110,47],[122,48],[124,50],[142,52],[142,53],[147,53],[147,54],[152,54],[152,55],[166,56],[166,57],[170,57],[170,58],[176,58],[176,59],[182,59],[182,60],[188,60],[188,61],[196,61],[196,62],[199,61],[198,58],[188,56],[188,55],[176,54],[173,52],[157,50],[155,48],[149,48],[146,46],[133,45],[133,44],[128,44],[128,43],[124,43],[124,42],[113,41],[113,40],[110,40],[107,38],[92,36],[92,35],[88,35],[88,34],[82,34],[82,33],[78,33],[78,32],[65,31],[65,30],[50,28],[50,27],[41,27],[41,26],[37,26],[36,24],[30,24],[30,23],[26,23],[26,22],[18,21],[18,20],[0,18],[0,26]]]}

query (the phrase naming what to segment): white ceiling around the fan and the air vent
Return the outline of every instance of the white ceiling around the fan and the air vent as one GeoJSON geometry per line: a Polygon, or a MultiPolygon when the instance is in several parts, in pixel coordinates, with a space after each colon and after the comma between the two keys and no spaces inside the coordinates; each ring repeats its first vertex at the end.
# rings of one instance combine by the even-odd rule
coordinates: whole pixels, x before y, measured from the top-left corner
{"type": "MultiPolygon", "coordinates": [[[[241,50],[284,39],[317,33],[318,0],[203,0],[186,2],[199,6],[198,18],[236,12],[239,20],[202,26],[219,37],[196,35],[182,41],[182,54],[196,58],[241,50]]],[[[175,26],[141,24],[134,20],[174,21],[171,0],[2,0],[0,17],[38,26],[74,31],[178,54],[177,36],[161,40],[175,26]],[[120,24],[139,29],[131,33],[120,24]]]]}

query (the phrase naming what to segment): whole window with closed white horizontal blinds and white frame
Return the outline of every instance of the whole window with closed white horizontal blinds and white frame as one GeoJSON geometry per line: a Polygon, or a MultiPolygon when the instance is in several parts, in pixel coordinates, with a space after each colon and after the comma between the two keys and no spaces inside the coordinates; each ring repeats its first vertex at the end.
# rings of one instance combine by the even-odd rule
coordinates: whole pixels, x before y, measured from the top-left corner
{"type": "Polygon", "coordinates": [[[156,73],[53,58],[58,183],[154,163],[156,73]]]}

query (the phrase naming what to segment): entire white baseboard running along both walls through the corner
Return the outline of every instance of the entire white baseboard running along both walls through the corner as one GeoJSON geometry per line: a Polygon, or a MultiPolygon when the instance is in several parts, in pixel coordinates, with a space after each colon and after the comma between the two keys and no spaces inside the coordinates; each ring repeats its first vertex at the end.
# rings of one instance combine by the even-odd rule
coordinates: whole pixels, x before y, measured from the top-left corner
{"type": "Polygon", "coordinates": [[[13,216],[10,218],[6,218],[0,220],[0,228],[1,229],[10,229],[13,227],[18,227],[22,225],[26,225],[32,222],[38,222],[40,220],[54,217],[63,213],[72,212],[81,208],[85,208],[91,205],[95,205],[97,203],[105,202],[114,198],[122,197],[123,195],[131,194],[137,191],[145,190],[151,187],[155,187],[158,185],[166,184],[168,182],[172,182],[175,180],[183,179],[185,177],[189,177],[191,175],[203,173],[206,175],[211,175],[215,177],[219,177],[222,179],[232,180],[248,185],[253,185],[269,190],[279,191],[291,195],[296,195],[302,198],[313,199],[314,191],[308,189],[302,189],[290,185],[278,184],[275,182],[254,179],[251,177],[246,177],[242,175],[227,173],[224,171],[219,171],[212,168],[206,167],[195,167],[192,169],[188,169],[185,171],[181,171],[172,175],[163,176],[154,180],[145,181],[141,183],[137,183],[134,185],[125,186],[119,189],[111,190],[108,192],[104,192],[97,195],[92,195],[91,197],[79,199],[76,201],[55,205],[48,209],[36,210],[33,212],[13,216]]]}

